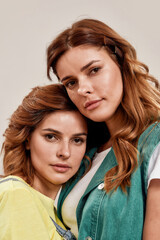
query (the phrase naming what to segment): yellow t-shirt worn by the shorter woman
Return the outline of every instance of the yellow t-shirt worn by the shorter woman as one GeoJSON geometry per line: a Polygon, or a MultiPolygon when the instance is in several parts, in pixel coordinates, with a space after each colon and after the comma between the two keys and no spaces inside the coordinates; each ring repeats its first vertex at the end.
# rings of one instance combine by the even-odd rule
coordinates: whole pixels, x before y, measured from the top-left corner
{"type": "Polygon", "coordinates": [[[50,217],[64,228],[55,214],[54,200],[19,177],[1,179],[1,240],[62,240],[50,217]]]}

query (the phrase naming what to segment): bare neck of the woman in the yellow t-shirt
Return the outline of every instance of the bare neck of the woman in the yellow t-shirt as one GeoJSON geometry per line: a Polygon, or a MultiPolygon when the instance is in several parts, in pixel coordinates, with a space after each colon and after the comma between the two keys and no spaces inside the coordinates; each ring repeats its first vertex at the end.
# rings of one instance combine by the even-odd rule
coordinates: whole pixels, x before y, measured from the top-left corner
{"type": "Polygon", "coordinates": [[[38,192],[54,200],[61,185],[55,185],[44,178],[35,175],[32,187],[38,192]]]}

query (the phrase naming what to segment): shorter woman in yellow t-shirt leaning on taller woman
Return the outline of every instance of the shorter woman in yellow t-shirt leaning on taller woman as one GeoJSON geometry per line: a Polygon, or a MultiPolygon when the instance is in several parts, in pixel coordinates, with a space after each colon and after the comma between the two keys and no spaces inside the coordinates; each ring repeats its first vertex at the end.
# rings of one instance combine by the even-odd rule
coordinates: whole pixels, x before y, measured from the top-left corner
{"type": "Polygon", "coordinates": [[[58,219],[54,199],[87,163],[87,125],[61,84],[35,87],[24,98],[4,133],[1,240],[76,239],[58,219]]]}

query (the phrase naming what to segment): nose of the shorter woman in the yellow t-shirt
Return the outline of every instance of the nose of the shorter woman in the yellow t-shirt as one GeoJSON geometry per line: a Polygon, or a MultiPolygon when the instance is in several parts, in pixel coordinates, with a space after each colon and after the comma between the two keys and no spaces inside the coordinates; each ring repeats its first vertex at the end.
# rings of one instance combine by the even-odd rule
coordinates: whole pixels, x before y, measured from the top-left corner
{"type": "Polygon", "coordinates": [[[62,142],[58,146],[57,157],[66,160],[70,157],[70,148],[68,142],[62,142]]]}

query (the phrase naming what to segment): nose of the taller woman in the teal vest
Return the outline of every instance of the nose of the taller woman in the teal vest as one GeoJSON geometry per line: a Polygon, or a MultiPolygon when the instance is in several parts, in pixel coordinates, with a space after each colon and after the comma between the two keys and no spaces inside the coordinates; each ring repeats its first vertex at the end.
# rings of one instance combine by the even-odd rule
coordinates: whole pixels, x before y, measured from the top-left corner
{"type": "Polygon", "coordinates": [[[79,80],[78,94],[82,96],[87,96],[93,92],[92,84],[86,78],[79,80]]]}

